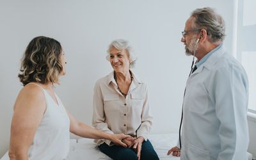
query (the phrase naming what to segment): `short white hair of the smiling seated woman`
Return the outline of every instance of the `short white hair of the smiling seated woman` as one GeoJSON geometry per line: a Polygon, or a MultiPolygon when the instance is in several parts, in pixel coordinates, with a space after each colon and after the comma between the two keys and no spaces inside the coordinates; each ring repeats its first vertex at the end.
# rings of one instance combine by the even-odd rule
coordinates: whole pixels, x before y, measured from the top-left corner
{"type": "Polygon", "coordinates": [[[125,51],[127,51],[127,53],[128,53],[128,57],[131,59],[130,68],[134,67],[135,61],[137,60],[137,56],[134,53],[134,51],[132,50],[132,47],[129,44],[129,41],[123,40],[123,39],[113,40],[111,42],[111,44],[109,44],[108,51],[107,51],[108,52],[108,56],[106,56],[106,59],[108,61],[110,59],[109,53],[110,53],[111,47],[115,47],[116,49],[118,49],[120,51],[123,51],[125,49],[125,51]]]}

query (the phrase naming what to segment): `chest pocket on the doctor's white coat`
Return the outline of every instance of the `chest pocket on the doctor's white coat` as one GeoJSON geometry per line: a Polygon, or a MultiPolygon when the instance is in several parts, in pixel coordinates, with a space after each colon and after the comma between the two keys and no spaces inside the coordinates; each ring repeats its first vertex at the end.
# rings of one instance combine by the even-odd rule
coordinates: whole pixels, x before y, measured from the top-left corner
{"type": "Polygon", "coordinates": [[[192,88],[192,93],[188,96],[188,108],[193,113],[203,115],[208,109],[208,93],[204,86],[195,86],[192,88]]]}

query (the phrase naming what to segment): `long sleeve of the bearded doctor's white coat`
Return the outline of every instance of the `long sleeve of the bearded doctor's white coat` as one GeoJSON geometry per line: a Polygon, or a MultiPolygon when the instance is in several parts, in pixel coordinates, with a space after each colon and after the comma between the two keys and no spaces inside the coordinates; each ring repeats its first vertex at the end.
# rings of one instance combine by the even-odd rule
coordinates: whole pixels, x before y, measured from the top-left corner
{"type": "Polygon", "coordinates": [[[220,120],[221,151],[218,160],[244,159],[248,147],[246,74],[239,66],[218,68],[214,86],[216,116],[220,120]]]}

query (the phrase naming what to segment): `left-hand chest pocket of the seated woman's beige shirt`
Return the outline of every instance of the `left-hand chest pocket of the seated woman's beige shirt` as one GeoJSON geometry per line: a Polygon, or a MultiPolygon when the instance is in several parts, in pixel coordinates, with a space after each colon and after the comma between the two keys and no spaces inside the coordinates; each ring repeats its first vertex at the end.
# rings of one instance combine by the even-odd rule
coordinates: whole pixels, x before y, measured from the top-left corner
{"type": "Polygon", "coordinates": [[[109,94],[104,97],[104,111],[118,111],[120,108],[120,102],[118,95],[109,94]]]}

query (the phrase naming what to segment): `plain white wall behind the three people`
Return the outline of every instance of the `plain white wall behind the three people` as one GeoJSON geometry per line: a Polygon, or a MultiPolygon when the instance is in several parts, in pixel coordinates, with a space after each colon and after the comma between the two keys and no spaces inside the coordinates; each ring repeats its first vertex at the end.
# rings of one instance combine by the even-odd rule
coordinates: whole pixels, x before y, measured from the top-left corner
{"type": "Polygon", "coordinates": [[[108,44],[115,38],[129,40],[138,52],[134,71],[148,83],[152,132],[178,132],[191,65],[180,31],[192,10],[211,6],[226,21],[225,44],[232,51],[233,5],[232,0],[0,0],[0,157],[9,147],[13,103],[22,88],[20,58],[35,36],[50,36],[63,45],[67,75],[56,92],[86,124],[92,119],[93,85],[112,70],[105,59],[108,44]]]}

